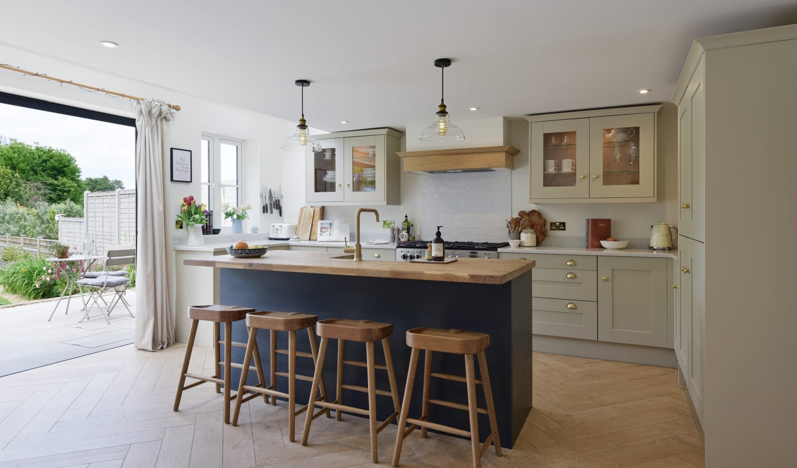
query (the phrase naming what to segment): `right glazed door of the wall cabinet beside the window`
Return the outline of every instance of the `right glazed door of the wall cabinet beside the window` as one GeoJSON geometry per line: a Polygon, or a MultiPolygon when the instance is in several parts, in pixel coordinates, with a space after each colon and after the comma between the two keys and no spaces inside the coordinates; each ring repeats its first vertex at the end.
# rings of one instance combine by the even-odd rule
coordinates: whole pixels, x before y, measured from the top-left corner
{"type": "Polygon", "coordinates": [[[385,200],[385,137],[346,138],[346,201],[385,200]]]}

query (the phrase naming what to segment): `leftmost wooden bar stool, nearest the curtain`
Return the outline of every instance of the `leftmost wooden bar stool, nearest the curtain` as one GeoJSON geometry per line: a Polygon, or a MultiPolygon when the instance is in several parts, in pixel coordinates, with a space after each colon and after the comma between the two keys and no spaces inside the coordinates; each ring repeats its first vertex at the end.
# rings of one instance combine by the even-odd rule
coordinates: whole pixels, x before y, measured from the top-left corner
{"type": "MultiPolygon", "coordinates": [[[[245,369],[249,370],[248,367],[244,367],[243,365],[234,363],[230,359],[230,355],[232,354],[233,346],[237,346],[239,348],[245,348],[246,345],[244,343],[238,343],[237,341],[233,341],[233,322],[238,322],[238,320],[243,320],[246,318],[246,314],[249,312],[254,312],[254,309],[250,307],[240,307],[240,306],[191,306],[188,308],[188,318],[190,318],[193,322],[191,322],[191,331],[188,334],[188,344],[186,345],[186,357],[183,359],[183,370],[180,371],[180,382],[177,385],[177,395],[175,396],[175,407],[173,408],[175,411],[178,411],[180,408],[180,399],[183,397],[183,390],[187,390],[188,388],[194,388],[197,385],[204,384],[205,382],[213,382],[216,384],[216,393],[221,392],[221,386],[224,384],[224,423],[230,423],[230,401],[232,401],[236,396],[230,396],[230,370],[232,368],[238,369],[245,369]],[[188,372],[188,362],[191,359],[191,351],[194,349],[194,337],[197,334],[197,326],[199,325],[200,320],[205,320],[208,322],[213,322],[213,349],[214,349],[214,363],[215,363],[215,373],[213,376],[202,376],[198,374],[192,374],[188,372]],[[220,324],[224,324],[224,341],[220,340],[220,324]],[[220,361],[220,345],[224,345],[224,362],[220,361]],[[222,365],[224,366],[224,378],[222,379],[222,365]],[[192,379],[199,380],[198,382],[194,382],[193,384],[186,385],[186,377],[190,377],[192,379]]],[[[246,364],[249,366],[249,363],[246,364]]],[[[260,355],[257,355],[257,359],[254,361],[255,370],[257,371],[257,378],[260,379],[261,385],[265,385],[265,378],[263,377],[263,369],[260,363],[260,355]]],[[[263,399],[268,401],[267,396],[263,396],[263,399]]]]}

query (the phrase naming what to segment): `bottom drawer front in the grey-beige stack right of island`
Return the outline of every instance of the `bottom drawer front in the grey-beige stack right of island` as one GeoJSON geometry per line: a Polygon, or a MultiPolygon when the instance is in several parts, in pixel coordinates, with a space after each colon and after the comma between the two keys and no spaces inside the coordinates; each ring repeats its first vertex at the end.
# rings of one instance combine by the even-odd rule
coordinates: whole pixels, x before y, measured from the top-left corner
{"type": "Polygon", "coordinates": [[[532,333],[597,340],[598,303],[534,298],[532,300],[532,333]]]}

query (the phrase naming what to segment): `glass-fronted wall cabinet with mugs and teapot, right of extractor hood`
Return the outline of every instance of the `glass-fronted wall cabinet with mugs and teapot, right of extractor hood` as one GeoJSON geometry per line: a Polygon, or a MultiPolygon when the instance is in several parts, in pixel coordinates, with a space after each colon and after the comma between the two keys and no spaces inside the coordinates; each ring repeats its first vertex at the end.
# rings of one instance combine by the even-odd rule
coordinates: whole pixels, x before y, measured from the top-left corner
{"type": "Polygon", "coordinates": [[[529,202],[656,201],[661,106],[532,115],[529,202]]]}

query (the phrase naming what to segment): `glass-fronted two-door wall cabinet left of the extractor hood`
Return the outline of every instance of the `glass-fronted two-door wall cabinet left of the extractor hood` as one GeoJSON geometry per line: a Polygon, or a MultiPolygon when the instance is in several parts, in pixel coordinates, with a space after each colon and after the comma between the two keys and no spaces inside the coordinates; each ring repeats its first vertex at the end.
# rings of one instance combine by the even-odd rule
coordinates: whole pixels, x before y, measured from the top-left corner
{"type": "Polygon", "coordinates": [[[387,128],[319,135],[322,150],[307,154],[307,202],[399,205],[402,134],[387,128]]]}

